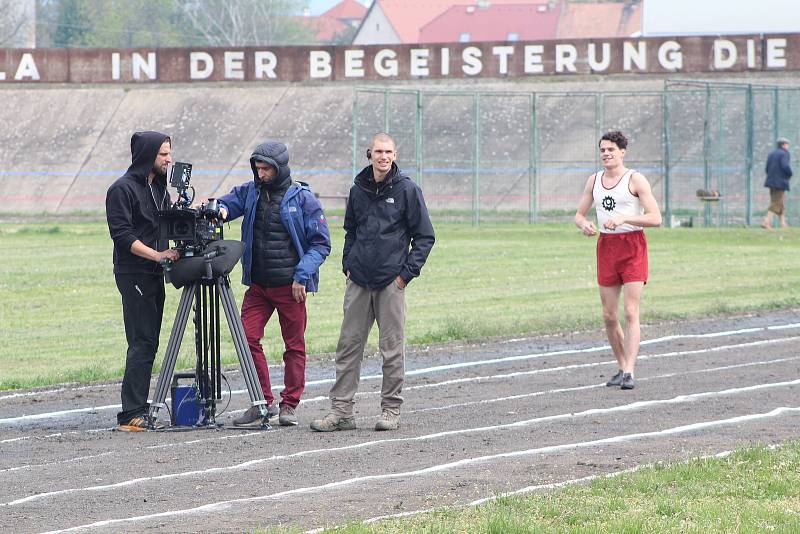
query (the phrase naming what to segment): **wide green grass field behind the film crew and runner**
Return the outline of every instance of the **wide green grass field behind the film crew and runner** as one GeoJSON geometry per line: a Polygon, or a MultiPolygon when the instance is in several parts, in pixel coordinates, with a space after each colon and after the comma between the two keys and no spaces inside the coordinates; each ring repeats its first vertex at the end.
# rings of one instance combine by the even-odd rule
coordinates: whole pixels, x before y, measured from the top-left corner
{"type": "MultiPolygon", "coordinates": [[[[321,291],[308,302],[309,354],[332,352],[341,324],[341,219],[332,216],[331,227],[333,253],[323,265],[321,291]]],[[[572,225],[437,223],[436,229],[422,277],[408,289],[408,343],[602,326],[595,241],[572,225]]],[[[231,225],[226,236],[236,238],[238,230],[231,225]]],[[[800,305],[798,238],[794,228],[649,231],[642,321],[800,305]]],[[[0,389],[121,376],[122,309],[105,222],[6,223],[0,257],[0,389]]],[[[239,304],[240,279],[237,267],[232,280],[239,304]]],[[[179,297],[168,287],[161,354],[179,297]]],[[[180,367],[191,367],[194,359],[187,330],[180,367]]],[[[265,340],[277,361],[282,341],[276,320],[265,340]]],[[[223,359],[236,362],[225,340],[223,359]]]]}

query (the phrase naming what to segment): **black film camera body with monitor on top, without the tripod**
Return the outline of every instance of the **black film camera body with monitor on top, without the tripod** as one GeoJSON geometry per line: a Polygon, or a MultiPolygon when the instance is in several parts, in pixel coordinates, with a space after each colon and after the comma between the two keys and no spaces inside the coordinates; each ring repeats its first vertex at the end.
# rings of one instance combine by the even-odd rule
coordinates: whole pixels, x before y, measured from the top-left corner
{"type": "Polygon", "coordinates": [[[209,198],[199,208],[192,208],[195,190],[189,185],[191,179],[192,164],[175,162],[169,185],[178,191],[178,198],[170,209],[158,212],[161,239],[174,241],[181,257],[200,255],[209,243],[221,239],[219,204],[216,199],[209,198]]]}

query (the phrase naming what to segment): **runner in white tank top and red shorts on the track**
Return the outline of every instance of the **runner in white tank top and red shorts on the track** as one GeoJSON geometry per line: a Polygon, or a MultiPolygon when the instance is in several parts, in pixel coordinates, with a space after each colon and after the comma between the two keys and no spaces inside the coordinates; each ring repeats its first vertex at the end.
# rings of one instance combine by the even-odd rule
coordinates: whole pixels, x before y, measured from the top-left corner
{"type": "Polygon", "coordinates": [[[639,356],[639,303],[647,281],[647,241],[643,227],[661,225],[661,212],[650,183],[639,172],[625,167],[628,140],[622,132],[600,138],[603,171],[589,176],[583,188],[575,225],[586,236],[597,235],[597,226],[586,216],[597,212],[597,281],[609,345],[619,372],[607,386],[633,389],[633,371],[639,356]],[[625,299],[625,330],[619,321],[619,295],[625,299]]]}

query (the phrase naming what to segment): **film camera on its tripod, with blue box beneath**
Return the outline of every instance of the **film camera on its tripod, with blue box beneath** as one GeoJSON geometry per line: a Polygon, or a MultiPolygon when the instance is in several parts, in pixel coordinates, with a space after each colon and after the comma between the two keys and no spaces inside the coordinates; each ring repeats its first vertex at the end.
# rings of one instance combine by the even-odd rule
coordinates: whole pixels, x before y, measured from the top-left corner
{"type": "Polygon", "coordinates": [[[156,428],[154,422],[158,411],[167,407],[165,401],[170,391],[173,400],[170,415],[174,426],[221,426],[216,422],[216,412],[217,401],[222,399],[222,382],[225,380],[220,353],[222,305],[251,405],[257,407],[261,414],[260,428],[268,430],[267,401],[258,381],[253,355],[247,345],[228,277],[242,257],[244,245],[241,241],[222,238],[222,217],[216,199],[208,199],[199,208],[191,207],[195,197],[194,187],[189,185],[191,179],[191,163],[174,163],[169,184],[177,189],[178,198],[170,209],[158,212],[160,238],[173,241],[173,248],[180,254],[176,262],[162,261],[164,277],[176,288],[183,288],[183,293],[150,404],[151,428],[156,428]],[[181,341],[192,310],[197,364],[194,372],[175,373],[181,341]],[[194,379],[194,385],[179,387],[178,380],[182,378],[194,379]]]}

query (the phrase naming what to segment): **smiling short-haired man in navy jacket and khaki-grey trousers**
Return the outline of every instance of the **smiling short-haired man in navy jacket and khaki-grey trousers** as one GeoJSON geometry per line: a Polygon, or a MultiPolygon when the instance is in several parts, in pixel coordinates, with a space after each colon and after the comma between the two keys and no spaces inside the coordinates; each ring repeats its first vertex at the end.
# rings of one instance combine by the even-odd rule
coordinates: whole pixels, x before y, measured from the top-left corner
{"type": "Polygon", "coordinates": [[[400,426],[400,392],[405,377],[405,288],[420,274],[434,243],[422,190],[395,164],[396,144],[381,133],[372,138],[372,162],[355,178],[344,217],[342,267],[347,275],[344,319],[336,347],[336,382],[331,413],[311,423],[318,432],[352,430],[353,398],[372,324],[380,332],[383,358],[381,416],[375,430],[400,426]]]}

